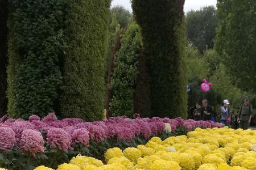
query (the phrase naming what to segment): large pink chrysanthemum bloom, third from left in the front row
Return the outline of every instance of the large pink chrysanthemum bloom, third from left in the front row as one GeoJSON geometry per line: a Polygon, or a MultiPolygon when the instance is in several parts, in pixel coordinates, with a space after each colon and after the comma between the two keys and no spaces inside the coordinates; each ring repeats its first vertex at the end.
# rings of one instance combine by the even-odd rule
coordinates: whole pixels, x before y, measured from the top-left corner
{"type": "Polygon", "coordinates": [[[47,131],[47,142],[51,148],[59,147],[60,150],[71,149],[71,135],[60,128],[51,128],[47,131]]]}

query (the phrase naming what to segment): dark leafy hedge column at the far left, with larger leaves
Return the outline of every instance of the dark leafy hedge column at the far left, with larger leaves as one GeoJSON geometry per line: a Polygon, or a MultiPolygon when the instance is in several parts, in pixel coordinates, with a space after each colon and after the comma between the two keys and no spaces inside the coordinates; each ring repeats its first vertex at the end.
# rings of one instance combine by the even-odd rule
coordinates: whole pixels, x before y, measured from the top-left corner
{"type": "Polygon", "coordinates": [[[8,113],[27,118],[53,111],[61,84],[63,0],[10,1],[8,113]]]}

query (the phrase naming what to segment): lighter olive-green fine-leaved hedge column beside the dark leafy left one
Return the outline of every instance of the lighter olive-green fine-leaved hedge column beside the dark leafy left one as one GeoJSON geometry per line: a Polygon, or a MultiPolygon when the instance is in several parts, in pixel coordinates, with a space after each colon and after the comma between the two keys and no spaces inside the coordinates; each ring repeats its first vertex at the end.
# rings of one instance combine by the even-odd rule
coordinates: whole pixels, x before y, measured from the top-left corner
{"type": "Polygon", "coordinates": [[[110,0],[69,0],[61,113],[100,120],[104,109],[104,55],[110,0]]]}

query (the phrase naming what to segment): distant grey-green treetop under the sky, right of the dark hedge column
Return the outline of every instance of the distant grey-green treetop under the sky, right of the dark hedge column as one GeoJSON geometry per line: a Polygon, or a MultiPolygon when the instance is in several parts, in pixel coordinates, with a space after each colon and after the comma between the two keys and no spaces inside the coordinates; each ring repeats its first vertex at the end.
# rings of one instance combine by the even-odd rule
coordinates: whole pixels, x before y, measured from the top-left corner
{"type": "Polygon", "coordinates": [[[200,53],[213,48],[215,29],[218,24],[216,8],[206,6],[198,11],[189,11],[186,15],[187,36],[200,53]]]}

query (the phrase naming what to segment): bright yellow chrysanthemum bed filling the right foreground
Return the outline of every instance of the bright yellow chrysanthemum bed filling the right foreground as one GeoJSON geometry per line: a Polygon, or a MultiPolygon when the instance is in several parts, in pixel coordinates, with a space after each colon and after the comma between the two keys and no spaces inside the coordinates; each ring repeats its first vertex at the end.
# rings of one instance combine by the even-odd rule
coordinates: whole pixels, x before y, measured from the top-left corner
{"type": "MultiPolygon", "coordinates": [[[[78,155],[58,170],[255,170],[256,130],[225,128],[200,129],[187,136],[164,141],[152,138],[137,148],[110,148],[106,165],[100,160],[78,155]]],[[[38,167],[36,170],[49,170],[38,167]]]]}

